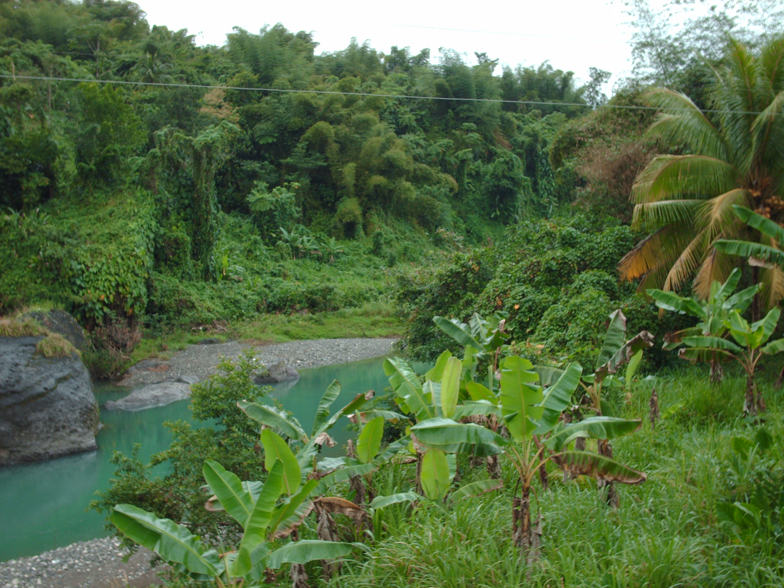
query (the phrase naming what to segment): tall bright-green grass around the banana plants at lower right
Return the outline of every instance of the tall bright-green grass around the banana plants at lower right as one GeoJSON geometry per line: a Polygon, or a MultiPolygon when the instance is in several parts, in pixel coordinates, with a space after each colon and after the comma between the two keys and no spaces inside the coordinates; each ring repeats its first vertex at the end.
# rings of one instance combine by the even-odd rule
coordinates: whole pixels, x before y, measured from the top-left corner
{"type": "MultiPolygon", "coordinates": [[[[410,514],[402,506],[385,511],[383,539],[368,557],[344,564],[329,586],[781,586],[781,544],[767,535],[748,540],[717,518],[717,505],[735,499],[746,471],[732,438],[753,438],[760,427],[739,418],[744,380],[728,376],[712,387],[692,368],[663,376],[655,387],[667,415],[655,429],[648,422],[650,383],[637,383],[628,403],[615,399],[623,416],[644,420],[638,434],[613,443],[615,457],[644,470],[648,481],[619,488],[621,506],[612,510],[593,481],[564,483],[551,472],[550,489],[537,486],[533,499],[543,537],[532,566],[511,541],[515,474],[504,463],[501,492],[421,505],[410,514]]],[[[763,426],[779,445],[784,396],[770,384],[762,390],[769,406],[763,426]]],[[[487,477],[483,467],[467,466],[459,468],[461,485],[487,477]]],[[[780,474],[781,466],[775,453],[771,467],[780,474]]],[[[379,494],[410,485],[410,476],[391,470],[374,480],[379,494]]]]}

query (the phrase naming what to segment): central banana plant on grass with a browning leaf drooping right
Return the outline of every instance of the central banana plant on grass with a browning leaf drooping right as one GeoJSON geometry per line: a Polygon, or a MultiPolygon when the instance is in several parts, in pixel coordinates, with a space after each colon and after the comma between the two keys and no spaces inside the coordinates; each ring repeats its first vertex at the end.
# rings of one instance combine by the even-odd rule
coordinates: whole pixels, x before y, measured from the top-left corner
{"type": "MultiPolygon", "coordinates": [[[[630,434],[641,426],[639,420],[596,416],[579,423],[564,423],[564,409],[572,404],[583,368],[572,363],[561,371],[557,380],[546,388],[539,383],[539,373],[524,358],[510,356],[500,362],[501,380],[499,412],[509,431],[510,440],[486,430],[480,434],[473,423],[456,423],[450,419],[424,419],[412,426],[419,444],[442,452],[458,452],[474,445],[494,445],[510,460],[517,471],[521,495],[514,496],[512,508],[514,543],[523,556],[536,557],[541,529],[532,525],[531,492],[535,477],[550,461],[569,474],[594,477],[601,484],[619,481],[638,484],[645,474],[614,461],[601,453],[570,450],[577,438],[593,437],[601,441],[630,434]]],[[[492,404],[487,401],[488,404],[492,404]]],[[[441,464],[443,468],[443,464],[441,464]]]]}

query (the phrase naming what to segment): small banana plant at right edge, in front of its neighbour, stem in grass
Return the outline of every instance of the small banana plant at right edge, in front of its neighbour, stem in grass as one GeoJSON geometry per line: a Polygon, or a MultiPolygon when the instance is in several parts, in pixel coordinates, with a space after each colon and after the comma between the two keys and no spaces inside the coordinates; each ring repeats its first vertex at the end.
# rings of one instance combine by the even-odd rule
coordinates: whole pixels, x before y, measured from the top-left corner
{"type": "Polygon", "coordinates": [[[755,382],[757,363],[765,355],[775,355],[784,351],[784,339],[776,339],[768,343],[771,335],[779,324],[781,310],[773,308],[764,318],[749,324],[742,318],[738,310],[732,310],[724,326],[728,329],[732,339],[723,339],[716,336],[688,336],[684,337],[678,357],[695,362],[705,361],[709,354],[724,355],[738,361],[746,372],[746,394],[743,402],[743,412],[746,415],[757,416],[765,410],[765,401],[755,382]],[[766,344],[767,343],[767,344],[766,344]]]}

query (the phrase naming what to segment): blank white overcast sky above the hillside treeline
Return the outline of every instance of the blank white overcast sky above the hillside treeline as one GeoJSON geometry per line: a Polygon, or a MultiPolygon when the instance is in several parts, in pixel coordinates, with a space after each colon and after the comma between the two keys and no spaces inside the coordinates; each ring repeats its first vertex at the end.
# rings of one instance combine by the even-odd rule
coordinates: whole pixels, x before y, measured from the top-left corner
{"type": "MultiPolygon", "coordinates": [[[[467,53],[486,52],[502,64],[538,65],[544,60],[572,70],[581,80],[588,68],[612,71],[613,80],[631,67],[630,27],[619,2],[608,0],[490,0],[489,2],[367,2],[367,0],[137,0],[152,24],[187,28],[200,44],[223,45],[231,27],[258,32],[281,23],[290,31],[313,31],[317,51],[344,49],[351,37],[385,53],[391,45],[412,52],[439,47],[467,53]],[[416,25],[416,26],[415,26],[416,25]],[[428,28],[439,27],[439,28],[428,28]],[[444,31],[443,28],[472,31],[444,31]]],[[[498,73],[498,70],[496,70],[498,73]]]]}

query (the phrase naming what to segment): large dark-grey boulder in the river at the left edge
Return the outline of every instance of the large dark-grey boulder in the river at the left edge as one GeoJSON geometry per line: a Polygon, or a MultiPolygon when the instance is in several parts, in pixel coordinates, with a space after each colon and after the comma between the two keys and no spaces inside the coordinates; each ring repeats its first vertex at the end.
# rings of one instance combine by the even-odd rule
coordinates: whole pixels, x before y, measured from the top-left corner
{"type": "Polygon", "coordinates": [[[0,466],[97,448],[98,405],[77,354],[45,358],[41,336],[0,337],[0,466]]]}

